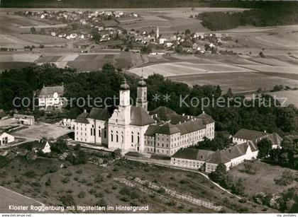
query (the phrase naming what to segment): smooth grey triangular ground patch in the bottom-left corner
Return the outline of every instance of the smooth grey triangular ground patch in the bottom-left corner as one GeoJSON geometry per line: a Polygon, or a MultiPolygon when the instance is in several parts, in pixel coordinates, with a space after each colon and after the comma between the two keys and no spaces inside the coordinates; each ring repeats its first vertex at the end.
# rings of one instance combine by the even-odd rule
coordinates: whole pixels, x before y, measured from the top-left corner
{"type": "Polygon", "coordinates": [[[9,209],[9,205],[13,206],[40,206],[43,205],[39,201],[30,197],[23,196],[17,192],[13,192],[10,189],[6,189],[0,186],[0,213],[30,213],[30,211],[13,211],[9,209]]]}

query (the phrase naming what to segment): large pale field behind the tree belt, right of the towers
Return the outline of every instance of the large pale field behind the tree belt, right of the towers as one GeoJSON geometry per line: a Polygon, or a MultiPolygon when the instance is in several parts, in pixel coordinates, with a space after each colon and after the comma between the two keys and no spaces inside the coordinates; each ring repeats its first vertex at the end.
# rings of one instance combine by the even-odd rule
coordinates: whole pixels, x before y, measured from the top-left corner
{"type": "MultiPolygon", "coordinates": [[[[189,86],[220,85],[223,92],[231,88],[233,93],[251,92],[258,88],[271,90],[277,84],[298,87],[298,64],[295,66],[294,61],[282,61],[283,64],[280,64],[279,60],[270,57],[263,61],[260,57],[208,59],[191,56],[187,59],[185,56],[172,55],[172,58],[162,58],[160,62],[155,60],[155,63],[143,66],[143,76],[161,74],[189,86]]],[[[138,76],[142,74],[140,67],[129,71],[138,76]]]]}

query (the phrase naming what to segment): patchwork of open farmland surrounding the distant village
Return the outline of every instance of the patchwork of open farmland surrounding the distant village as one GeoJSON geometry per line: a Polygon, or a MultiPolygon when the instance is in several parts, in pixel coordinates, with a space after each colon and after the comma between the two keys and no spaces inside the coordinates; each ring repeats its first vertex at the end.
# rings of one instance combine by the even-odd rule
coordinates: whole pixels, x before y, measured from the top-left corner
{"type": "MultiPolygon", "coordinates": [[[[220,85],[223,91],[231,88],[234,93],[246,93],[258,88],[272,89],[275,85],[298,86],[298,25],[255,28],[253,26],[238,27],[231,30],[216,31],[233,40],[223,42],[222,51],[233,51],[233,55],[153,55],[138,52],[121,52],[101,49],[82,54],[82,49],[74,48],[71,41],[46,35],[21,34],[28,33],[31,25],[61,25],[61,23],[38,18],[6,16],[8,8],[0,11],[0,45],[15,46],[16,52],[0,52],[0,69],[11,69],[26,65],[25,62],[44,64],[55,63],[58,67],[70,66],[78,71],[94,71],[101,69],[106,63],[123,68],[128,73],[147,77],[161,74],[173,81],[193,85],[220,85]],[[7,25],[9,23],[9,25],[7,25]],[[25,45],[45,45],[31,52],[19,51],[25,45]],[[62,47],[63,46],[63,47],[62,47]],[[112,53],[115,54],[112,54],[112,53]],[[260,57],[263,52],[265,58],[260,57]],[[117,53],[117,54],[116,54],[117,53]],[[26,60],[27,59],[27,60],[26,60]],[[16,62],[14,65],[13,63],[16,62]]],[[[10,13],[13,13],[11,9],[10,13]]],[[[33,11],[43,11],[34,8],[33,11]]],[[[59,8],[53,9],[59,11],[59,8]]],[[[90,9],[95,11],[96,8],[90,9]]],[[[200,20],[190,18],[207,11],[243,11],[241,8],[134,8],[121,9],[124,12],[138,13],[136,18],[117,18],[106,21],[106,25],[118,25],[126,30],[142,32],[155,30],[158,26],[160,35],[169,36],[186,29],[194,33],[210,33],[200,20]]],[[[74,8],[72,11],[79,11],[74,8]]],[[[204,45],[202,45],[204,46],[204,45]]]]}

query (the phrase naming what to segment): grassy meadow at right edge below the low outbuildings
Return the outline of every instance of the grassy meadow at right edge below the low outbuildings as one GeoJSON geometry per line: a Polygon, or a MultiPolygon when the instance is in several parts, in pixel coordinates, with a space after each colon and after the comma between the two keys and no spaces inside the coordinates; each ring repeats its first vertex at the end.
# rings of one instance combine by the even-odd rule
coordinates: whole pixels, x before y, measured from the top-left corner
{"type": "Polygon", "coordinates": [[[290,187],[294,187],[295,184],[298,184],[296,181],[293,181],[291,184],[287,184],[285,186],[277,185],[275,183],[274,180],[279,179],[282,172],[286,170],[289,170],[294,174],[297,172],[296,170],[282,168],[277,165],[269,165],[267,163],[253,161],[237,165],[235,168],[229,170],[228,173],[232,175],[233,180],[241,178],[245,187],[245,194],[248,194],[248,197],[253,197],[253,195],[258,192],[278,194],[283,192],[285,189],[289,189],[290,187]],[[255,174],[241,172],[244,170],[245,164],[251,165],[255,174]]]}

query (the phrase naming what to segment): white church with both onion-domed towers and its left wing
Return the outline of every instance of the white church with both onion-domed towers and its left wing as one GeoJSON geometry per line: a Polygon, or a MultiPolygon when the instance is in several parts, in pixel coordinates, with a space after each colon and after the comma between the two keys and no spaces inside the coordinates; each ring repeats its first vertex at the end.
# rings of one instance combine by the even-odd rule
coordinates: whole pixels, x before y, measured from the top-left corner
{"type": "Polygon", "coordinates": [[[144,134],[149,124],[154,122],[147,113],[146,92],[145,86],[138,86],[138,103],[134,107],[130,104],[129,86],[127,83],[122,84],[119,91],[120,104],[111,116],[107,110],[93,108],[90,114],[85,111],[81,115],[84,119],[78,117],[75,122],[75,141],[107,144],[111,150],[120,148],[123,152],[145,151],[144,134]],[[93,117],[95,112],[98,115],[93,117]],[[107,117],[103,118],[103,114],[107,117]],[[142,117],[135,117],[138,114],[145,116],[147,122],[140,122],[142,117]]]}

